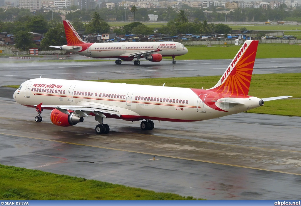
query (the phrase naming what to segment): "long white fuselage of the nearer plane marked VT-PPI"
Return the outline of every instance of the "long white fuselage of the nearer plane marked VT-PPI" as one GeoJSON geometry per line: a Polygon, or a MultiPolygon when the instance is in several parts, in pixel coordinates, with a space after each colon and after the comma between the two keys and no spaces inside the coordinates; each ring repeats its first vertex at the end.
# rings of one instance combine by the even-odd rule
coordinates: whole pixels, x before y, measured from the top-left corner
{"type": "MultiPolygon", "coordinates": [[[[121,114],[120,117],[110,115],[107,117],[131,121],[140,119],[201,121],[259,107],[260,99],[257,97],[227,98],[230,101],[240,102],[235,106],[227,106],[224,103],[212,103],[213,95],[208,96],[207,90],[199,89],[198,92],[200,95],[190,88],[39,78],[24,82],[22,88],[15,91],[14,99],[25,106],[40,103],[105,105],[121,114]],[[212,104],[216,104],[223,111],[213,109],[209,106],[212,104]]],[[[225,98],[226,96],[223,96],[220,100],[225,98]]]]}

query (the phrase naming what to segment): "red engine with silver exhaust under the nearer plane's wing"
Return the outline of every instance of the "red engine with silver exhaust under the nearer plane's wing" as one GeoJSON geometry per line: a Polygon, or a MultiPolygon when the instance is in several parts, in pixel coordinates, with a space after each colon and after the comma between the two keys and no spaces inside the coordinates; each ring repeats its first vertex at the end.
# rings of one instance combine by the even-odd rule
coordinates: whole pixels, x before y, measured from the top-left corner
{"type": "Polygon", "coordinates": [[[69,127],[84,121],[84,118],[76,116],[72,111],[69,112],[70,115],[67,115],[57,109],[52,110],[50,113],[51,122],[57,126],[69,127]]]}

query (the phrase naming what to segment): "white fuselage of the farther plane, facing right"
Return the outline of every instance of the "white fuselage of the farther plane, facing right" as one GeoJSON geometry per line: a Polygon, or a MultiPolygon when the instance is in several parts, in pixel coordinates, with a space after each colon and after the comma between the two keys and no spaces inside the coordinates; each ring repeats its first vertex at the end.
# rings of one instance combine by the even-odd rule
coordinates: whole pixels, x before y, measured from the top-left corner
{"type": "Polygon", "coordinates": [[[94,58],[128,58],[133,53],[153,51],[162,56],[180,56],[188,52],[185,46],[178,42],[113,42],[113,43],[87,43],[80,45],[82,49],[64,45],[61,48],[79,55],[94,58]]]}

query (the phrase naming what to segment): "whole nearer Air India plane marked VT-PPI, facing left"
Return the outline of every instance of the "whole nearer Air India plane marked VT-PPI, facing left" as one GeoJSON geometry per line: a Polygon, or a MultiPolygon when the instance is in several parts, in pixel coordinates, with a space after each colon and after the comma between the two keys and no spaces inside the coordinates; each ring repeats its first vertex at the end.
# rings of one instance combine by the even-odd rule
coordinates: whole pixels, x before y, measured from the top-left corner
{"type": "Polygon", "coordinates": [[[53,124],[68,127],[89,115],[99,124],[97,134],[108,133],[104,118],[140,121],[142,130],[152,130],[151,120],[191,122],[244,112],[263,106],[264,101],[249,96],[249,87],[258,41],[247,40],[239,49],[217,84],[210,89],[148,86],[66,79],[30,79],[14,92],[14,100],[36,108],[36,122],[43,109],[51,109],[53,124]]]}

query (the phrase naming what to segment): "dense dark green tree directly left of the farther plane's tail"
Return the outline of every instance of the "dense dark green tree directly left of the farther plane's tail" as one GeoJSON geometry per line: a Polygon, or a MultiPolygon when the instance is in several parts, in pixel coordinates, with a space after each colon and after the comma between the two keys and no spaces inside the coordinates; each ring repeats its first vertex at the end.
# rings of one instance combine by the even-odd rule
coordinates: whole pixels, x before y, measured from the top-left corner
{"type": "Polygon", "coordinates": [[[41,41],[41,47],[49,49],[50,45],[61,46],[67,44],[64,25],[58,24],[54,28],[50,28],[44,35],[41,41]]]}

